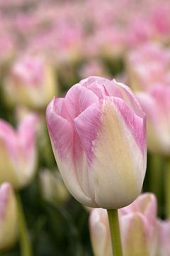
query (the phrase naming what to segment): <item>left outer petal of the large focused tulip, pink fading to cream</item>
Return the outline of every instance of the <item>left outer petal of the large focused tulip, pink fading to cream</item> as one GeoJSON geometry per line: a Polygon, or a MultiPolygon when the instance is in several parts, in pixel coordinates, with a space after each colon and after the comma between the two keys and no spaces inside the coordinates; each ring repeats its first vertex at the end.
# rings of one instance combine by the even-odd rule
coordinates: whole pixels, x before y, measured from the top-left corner
{"type": "Polygon", "coordinates": [[[91,198],[84,193],[79,183],[77,172],[86,174],[86,159],[84,159],[83,152],[79,154],[79,161],[74,161],[74,129],[72,124],[55,113],[55,100],[52,100],[48,105],[46,117],[52,149],[65,185],[69,192],[77,198],[77,201],[86,206],[93,206],[91,198]]]}

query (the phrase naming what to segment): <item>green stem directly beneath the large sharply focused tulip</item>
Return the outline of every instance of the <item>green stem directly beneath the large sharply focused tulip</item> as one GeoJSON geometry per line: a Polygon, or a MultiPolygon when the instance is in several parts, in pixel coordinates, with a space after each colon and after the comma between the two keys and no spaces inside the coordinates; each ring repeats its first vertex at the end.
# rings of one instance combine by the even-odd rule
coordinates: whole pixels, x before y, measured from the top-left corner
{"type": "Polygon", "coordinates": [[[120,238],[120,227],[118,210],[108,210],[108,220],[111,231],[111,242],[114,256],[123,256],[122,243],[120,238]]]}

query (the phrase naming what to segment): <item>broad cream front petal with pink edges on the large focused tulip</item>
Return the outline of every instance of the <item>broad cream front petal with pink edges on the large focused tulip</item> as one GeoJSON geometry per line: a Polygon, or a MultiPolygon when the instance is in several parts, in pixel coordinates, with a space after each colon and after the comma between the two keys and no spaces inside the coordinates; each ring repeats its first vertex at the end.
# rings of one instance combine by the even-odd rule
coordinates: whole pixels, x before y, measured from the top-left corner
{"type": "MultiPolygon", "coordinates": [[[[84,115],[81,114],[80,117],[83,118],[84,115]]],[[[77,123],[78,119],[79,117],[77,123]]],[[[86,119],[84,127],[83,125],[78,127],[76,124],[87,155],[88,145],[91,143],[88,129],[89,124],[93,124],[93,122],[93,115],[89,115],[89,120],[87,122],[86,119]],[[81,137],[81,134],[84,134],[84,137],[81,137]]],[[[93,126],[91,125],[91,127],[93,126]]],[[[142,188],[146,170],[146,155],[142,150],[146,146],[145,137],[141,147],[141,144],[135,139],[135,131],[131,129],[132,127],[138,129],[140,137],[140,131],[143,132],[145,122],[132,114],[123,100],[106,98],[103,102],[101,126],[97,138],[91,143],[93,156],[89,158],[91,159],[89,169],[94,187],[94,198],[98,206],[102,208],[126,206],[134,201],[142,188]],[[118,101],[120,101],[122,111],[128,110],[127,119],[130,118],[130,124],[126,124],[125,117],[120,112],[120,108],[118,109],[118,101]],[[121,193],[119,192],[120,188],[121,193]]],[[[97,125],[96,129],[98,129],[97,125]]]]}

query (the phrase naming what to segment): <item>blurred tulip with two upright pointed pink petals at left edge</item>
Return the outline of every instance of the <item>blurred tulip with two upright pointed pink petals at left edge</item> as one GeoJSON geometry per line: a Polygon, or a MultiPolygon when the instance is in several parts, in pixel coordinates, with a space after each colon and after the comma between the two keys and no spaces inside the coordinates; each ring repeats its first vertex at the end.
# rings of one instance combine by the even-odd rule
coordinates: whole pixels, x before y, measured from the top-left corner
{"type": "Polygon", "coordinates": [[[0,183],[10,182],[15,188],[30,183],[36,167],[35,128],[38,117],[27,115],[15,131],[0,119],[0,183]]]}

